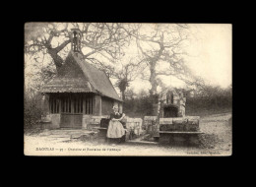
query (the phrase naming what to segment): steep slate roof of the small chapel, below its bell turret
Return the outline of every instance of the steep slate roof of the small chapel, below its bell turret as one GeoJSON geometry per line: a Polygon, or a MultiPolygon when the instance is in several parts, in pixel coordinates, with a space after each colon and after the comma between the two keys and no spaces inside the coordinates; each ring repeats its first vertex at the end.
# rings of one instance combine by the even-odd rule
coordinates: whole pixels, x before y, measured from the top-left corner
{"type": "Polygon", "coordinates": [[[106,74],[73,51],[61,67],[61,74],[41,88],[41,93],[96,93],[122,101],[106,74]]]}

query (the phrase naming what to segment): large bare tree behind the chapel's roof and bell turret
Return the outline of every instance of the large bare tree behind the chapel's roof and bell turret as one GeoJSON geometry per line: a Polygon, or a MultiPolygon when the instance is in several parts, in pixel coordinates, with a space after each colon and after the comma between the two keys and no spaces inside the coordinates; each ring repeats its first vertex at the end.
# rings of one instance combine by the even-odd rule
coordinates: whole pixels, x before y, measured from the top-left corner
{"type": "Polygon", "coordinates": [[[115,64],[124,55],[132,34],[138,30],[136,25],[120,23],[28,23],[25,25],[25,53],[34,60],[37,69],[32,90],[38,91],[64,64],[71,42],[71,29],[83,33],[81,48],[84,59],[103,70],[108,77],[118,79],[117,87],[123,98],[129,83],[135,79],[135,67],[128,64],[121,70],[115,64]],[[51,62],[42,65],[47,57],[51,62]],[[108,62],[108,63],[107,63],[108,62]],[[132,74],[132,75],[130,75],[132,74]]]}

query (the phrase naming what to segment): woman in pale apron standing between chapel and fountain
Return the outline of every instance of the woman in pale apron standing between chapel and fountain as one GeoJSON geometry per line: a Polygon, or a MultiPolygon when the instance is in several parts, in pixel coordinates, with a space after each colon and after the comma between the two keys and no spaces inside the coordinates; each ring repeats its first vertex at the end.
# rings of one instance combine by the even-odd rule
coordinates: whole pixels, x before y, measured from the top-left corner
{"type": "Polygon", "coordinates": [[[125,129],[120,122],[124,116],[124,113],[118,113],[117,106],[113,106],[113,113],[110,114],[110,121],[106,133],[109,142],[120,143],[121,138],[125,135],[125,129]]]}

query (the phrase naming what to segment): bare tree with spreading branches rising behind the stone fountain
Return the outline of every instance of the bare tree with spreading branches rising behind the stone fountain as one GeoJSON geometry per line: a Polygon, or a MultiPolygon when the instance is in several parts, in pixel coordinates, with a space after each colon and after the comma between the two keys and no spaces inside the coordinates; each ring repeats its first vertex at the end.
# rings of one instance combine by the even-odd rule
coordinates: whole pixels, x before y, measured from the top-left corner
{"type": "Polygon", "coordinates": [[[203,80],[193,76],[187,67],[183,50],[190,39],[187,25],[152,25],[150,31],[140,27],[133,36],[136,38],[141,61],[147,64],[150,74],[144,79],[150,81],[150,94],[157,94],[160,86],[159,76],[174,76],[188,85],[200,86],[203,80]],[[168,68],[158,71],[157,66],[167,64],[168,68]]]}

